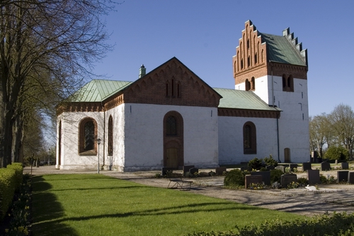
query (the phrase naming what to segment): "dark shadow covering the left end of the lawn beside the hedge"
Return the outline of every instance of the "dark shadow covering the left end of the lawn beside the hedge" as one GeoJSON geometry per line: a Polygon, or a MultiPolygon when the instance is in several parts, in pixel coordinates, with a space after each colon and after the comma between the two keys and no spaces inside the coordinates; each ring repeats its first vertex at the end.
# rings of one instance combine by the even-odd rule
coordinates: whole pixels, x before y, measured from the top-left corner
{"type": "Polygon", "coordinates": [[[57,221],[64,217],[64,209],[57,197],[48,192],[52,185],[45,182],[42,176],[33,177],[32,183],[33,235],[79,236],[72,227],[57,221]]]}

